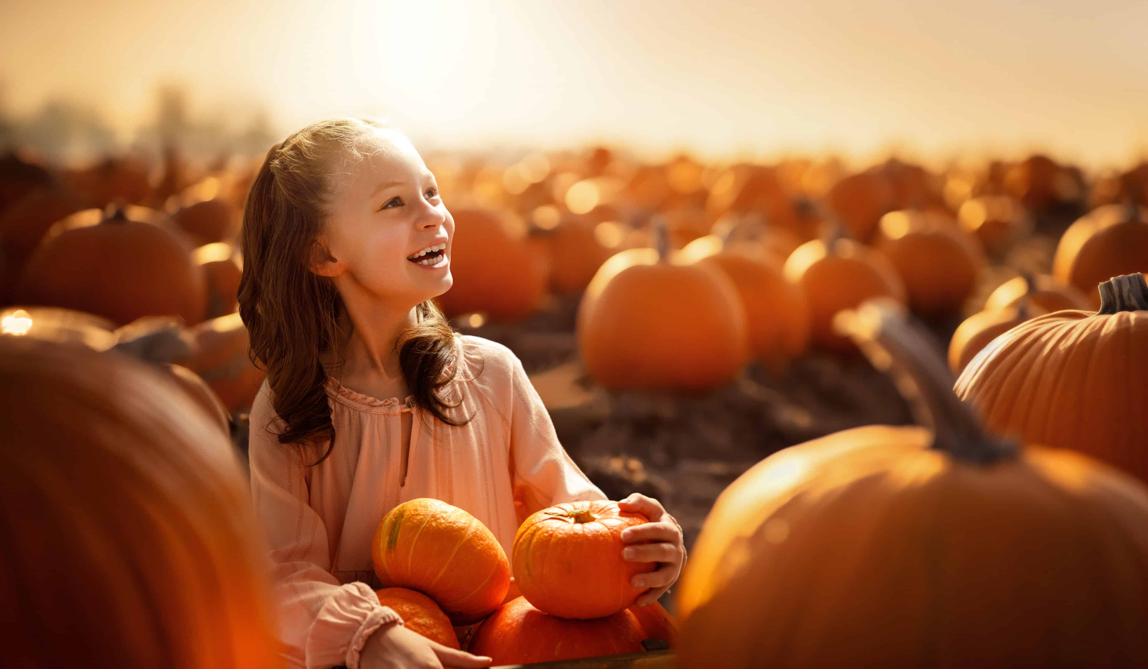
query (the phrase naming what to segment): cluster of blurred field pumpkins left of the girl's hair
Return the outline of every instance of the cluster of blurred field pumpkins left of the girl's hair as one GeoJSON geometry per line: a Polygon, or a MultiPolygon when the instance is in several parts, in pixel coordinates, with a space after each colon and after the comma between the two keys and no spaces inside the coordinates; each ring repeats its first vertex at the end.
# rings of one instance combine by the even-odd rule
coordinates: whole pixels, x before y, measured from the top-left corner
{"type": "Polygon", "coordinates": [[[235,238],[250,174],[219,168],[189,182],[174,151],[158,179],[146,168],[109,158],[53,173],[16,155],[0,158],[0,297],[8,305],[0,332],[168,365],[227,423],[264,380],[248,358],[236,304],[235,238]],[[140,350],[142,335],[155,341],[160,330],[181,345],[140,350]]]}

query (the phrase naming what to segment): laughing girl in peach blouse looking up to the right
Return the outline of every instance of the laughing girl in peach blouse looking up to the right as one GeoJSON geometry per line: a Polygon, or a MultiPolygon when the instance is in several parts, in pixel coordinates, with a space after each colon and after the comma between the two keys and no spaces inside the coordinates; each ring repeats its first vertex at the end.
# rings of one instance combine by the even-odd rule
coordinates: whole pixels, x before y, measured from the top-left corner
{"type": "MultiPolygon", "coordinates": [[[[558,443],[514,353],[458,336],[430,301],[451,287],[453,235],[418,151],[373,119],[304,127],[251,185],[239,303],[267,368],[250,415],[251,495],[293,666],[490,663],[379,604],[371,536],[397,504],[453,504],[509,557],[520,514],[605,498],[558,443]]],[[[642,544],[625,559],[660,563],[635,576],[644,606],[677,578],[682,532],[657,500],[620,506],[651,521],[622,537],[642,544]]]]}

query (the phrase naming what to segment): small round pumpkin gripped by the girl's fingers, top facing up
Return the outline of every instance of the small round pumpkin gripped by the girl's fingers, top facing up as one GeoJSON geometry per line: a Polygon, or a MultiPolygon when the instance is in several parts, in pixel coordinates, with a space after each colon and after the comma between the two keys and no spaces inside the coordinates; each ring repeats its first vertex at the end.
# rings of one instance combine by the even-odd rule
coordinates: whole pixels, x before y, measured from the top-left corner
{"type": "Polygon", "coordinates": [[[532,514],[519,526],[511,568],[535,608],[568,619],[615,614],[645,592],[630,585],[654,562],[622,559],[626,528],[650,522],[616,501],[568,501],[532,514]]]}

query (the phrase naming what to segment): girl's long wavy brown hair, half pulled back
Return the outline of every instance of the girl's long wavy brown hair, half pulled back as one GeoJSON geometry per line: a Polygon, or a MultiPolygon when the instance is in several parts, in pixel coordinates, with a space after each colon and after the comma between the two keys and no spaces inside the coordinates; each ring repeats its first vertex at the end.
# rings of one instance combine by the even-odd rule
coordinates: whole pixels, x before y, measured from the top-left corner
{"type": "MultiPolygon", "coordinates": [[[[332,197],[327,158],[360,161],[372,129],[389,127],[374,118],[332,118],[300,130],[267,151],[243,209],[239,313],[250,333],[249,355],[267,371],[271,406],[286,425],[279,443],[328,443],[316,465],[331,454],[335,437],[320,356],[331,350],[338,360],[334,349],[348,334],[339,327],[346,308],[334,281],[308,266],[332,197]]],[[[450,382],[455,332],[434,302],[416,310],[418,322],[396,342],[403,379],[418,406],[444,423],[464,425],[448,414],[457,404],[439,396],[450,382]]]]}

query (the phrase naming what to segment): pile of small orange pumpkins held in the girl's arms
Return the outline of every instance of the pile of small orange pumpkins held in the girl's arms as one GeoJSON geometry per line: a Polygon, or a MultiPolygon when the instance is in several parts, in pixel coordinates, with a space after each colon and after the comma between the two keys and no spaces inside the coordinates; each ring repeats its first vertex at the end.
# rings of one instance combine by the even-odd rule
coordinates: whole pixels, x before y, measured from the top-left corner
{"type": "Polygon", "coordinates": [[[495,664],[641,653],[676,635],[660,605],[634,604],[631,577],[656,565],[623,560],[620,534],[644,522],[614,501],[559,504],[522,522],[507,560],[473,515],[412,499],[372,538],[377,596],[406,628],[495,664]]]}

